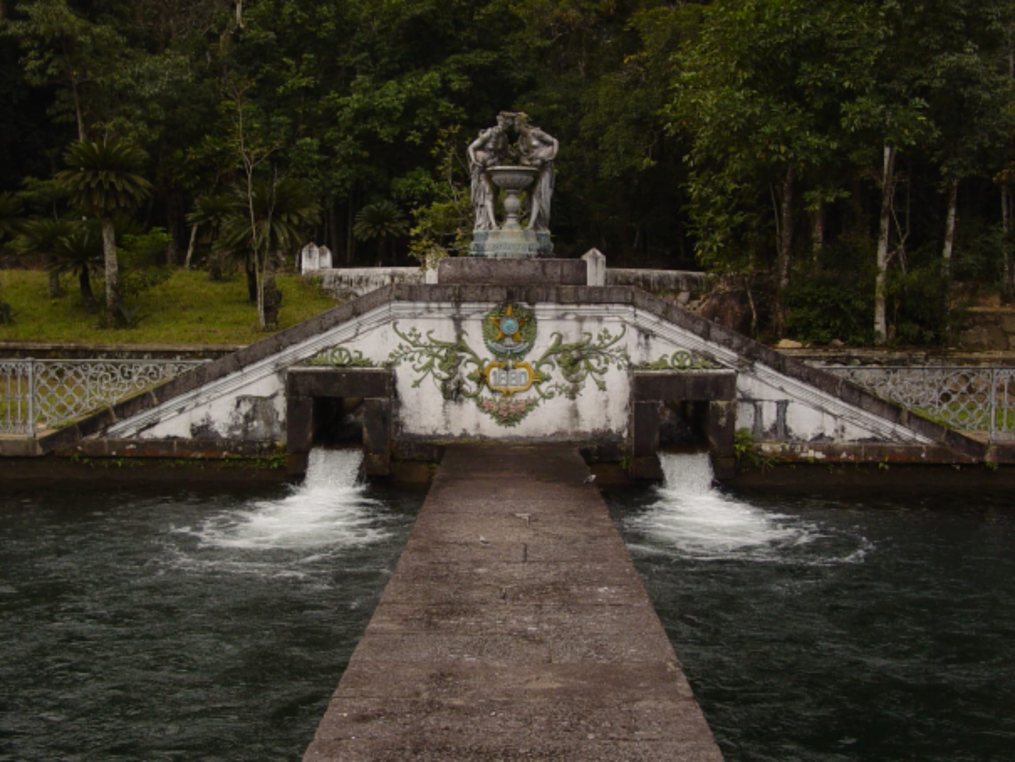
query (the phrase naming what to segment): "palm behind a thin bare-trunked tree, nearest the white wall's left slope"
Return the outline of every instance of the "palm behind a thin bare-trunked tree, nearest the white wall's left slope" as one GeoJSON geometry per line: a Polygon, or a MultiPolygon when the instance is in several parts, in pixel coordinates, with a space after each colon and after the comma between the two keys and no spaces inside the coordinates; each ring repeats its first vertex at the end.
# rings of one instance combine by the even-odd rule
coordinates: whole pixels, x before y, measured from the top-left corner
{"type": "Polygon", "coordinates": [[[277,320],[280,298],[275,290],[274,258],[302,243],[321,207],[311,190],[293,178],[257,180],[250,187],[250,192],[243,189],[233,196],[232,213],[222,223],[216,247],[244,252],[253,261],[258,322],[268,328],[277,320]]]}

